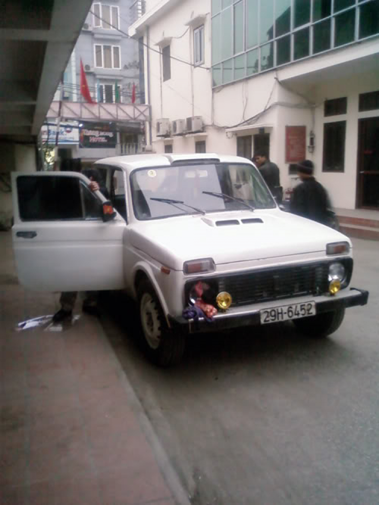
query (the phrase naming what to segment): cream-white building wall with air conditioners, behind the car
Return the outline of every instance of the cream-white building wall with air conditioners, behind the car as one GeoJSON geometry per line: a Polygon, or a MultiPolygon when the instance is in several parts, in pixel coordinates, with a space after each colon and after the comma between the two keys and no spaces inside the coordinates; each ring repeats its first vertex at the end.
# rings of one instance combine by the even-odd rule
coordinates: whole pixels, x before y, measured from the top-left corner
{"type": "MultiPolygon", "coordinates": [[[[162,0],[163,3],[164,0],[162,0]]],[[[161,2],[161,3],[162,3],[161,2]]],[[[159,1],[149,0],[147,11],[159,1]]],[[[354,209],[357,174],[358,119],[379,116],[379,111],[358,113],[359,93],[379,88],[377,39],[361,42],[303,61],[256,75],[250,79],[220,86],[212,91],[211,81],[211,2],[185,0],[172,2],[172,9],[150,23],[150,45],[164,37],[172,37],[171,56],[193,62],[193,31],[185,23],[191,17],[206,14],[205,63],[209,70],[171,60],[171,79],[162,82],[161,56],[150,52],[150,92],[152,105],[152,140],[157,152],[165,143],[173,144],[174,153],[194,152],[196,140],[206,140],[207,152],[236,154],[238,135],[258,133],[254,127],[265,126],[270,133],[270,158],[280,169],[284,188],[293,183],[286,164],[286,126],[306,126],[315,132],[313,153],[306,149],[306,158],[315,163],[317,179],[328,189],[335,207],[354,209]],[[177,38],[180,37],[180,38],[177,38]],[[376,62],[376,63],[375,63],[376,62]],[[303,95],[303,96],[302,96],[303,95]],[[305,96],[305,98],[304,98],[305,96]],[[347,96],[346,116],[323,117],[325,99],[347,96]],[[315,106],[311,106],[313,103],[315,106]],[[202,116],[206,125],[203,137],[184,136],[163,140],[156,137],[156,121],[170,121],[188,116],[202,116]],[[251,129],[226,132],[232,127],[259,115],[250,122],[251,129]],[[322,172],[323,124],[346,119],[345,171],[322,172]]],[[[145,41],[147,39],[145,38],[145,41]]],[[[157,46],[156,46],[157,47],[157,46]]],[[[146,50],[147,51],[147,50],[146,50]]],[[[147,54],[145,74],[147,76],[147,54]]],[[[149,138],[149,137],[148,137],[149,138]]]]}

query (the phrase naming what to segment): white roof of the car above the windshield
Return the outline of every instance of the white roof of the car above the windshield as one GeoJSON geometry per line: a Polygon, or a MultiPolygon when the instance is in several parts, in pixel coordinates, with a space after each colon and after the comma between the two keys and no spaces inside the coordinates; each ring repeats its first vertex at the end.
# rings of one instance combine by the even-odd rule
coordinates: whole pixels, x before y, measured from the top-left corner
{"type": "Polygon", "coordinates": [[[111,165],[114,167],[121,168],[126,172],[131,172],[136,168],[149,168],[149,167],[167,167],[169,165],[175,165],[176,163],[185,163],[186,161],[194,163],[197,160],[206,162],[209,160],[210,163],[249,163],[252,165],[251,161],[247,158],[241,158],[239,156],[227,156],[227,155],[217,155],[215,153],[205,153],[205,154],[141,154],[141,155],[125,155],[125,156],[114,156],[112,158],[104,158],[103,160],[98,160],[95,165],[111,165]]]}

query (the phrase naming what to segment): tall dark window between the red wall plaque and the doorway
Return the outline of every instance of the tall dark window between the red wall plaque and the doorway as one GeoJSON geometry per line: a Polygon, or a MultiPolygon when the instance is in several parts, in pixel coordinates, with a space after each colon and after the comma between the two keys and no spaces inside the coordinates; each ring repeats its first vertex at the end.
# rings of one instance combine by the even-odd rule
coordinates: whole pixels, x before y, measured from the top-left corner
{"type": "Polygon", "coordinates": [[[345,136],[346,121],[324,124],[323,172],[344,172],[345,136]]]}

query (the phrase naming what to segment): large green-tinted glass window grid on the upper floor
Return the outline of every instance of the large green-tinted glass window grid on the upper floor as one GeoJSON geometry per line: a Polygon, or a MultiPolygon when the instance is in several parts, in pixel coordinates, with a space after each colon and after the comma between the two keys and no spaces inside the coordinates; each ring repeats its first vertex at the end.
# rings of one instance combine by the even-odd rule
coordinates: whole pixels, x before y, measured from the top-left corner
{"type": "Polygon", "coordinates": [[[213,0],[213,86],[378,35],[378,13],[379,0],[213,0]]]}

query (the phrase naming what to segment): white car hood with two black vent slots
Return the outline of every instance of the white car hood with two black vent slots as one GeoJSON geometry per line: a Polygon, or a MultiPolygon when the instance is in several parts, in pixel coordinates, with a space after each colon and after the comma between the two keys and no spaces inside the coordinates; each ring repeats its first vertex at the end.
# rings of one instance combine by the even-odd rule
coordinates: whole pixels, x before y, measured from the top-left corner
{"type": "Polygon", "coordinates": [[[329,242],[350,243],[342,233],[278,209],[139,221],[129,234],[132,246],[174,270],[200,258],[221,265],[325,251],[329,242]]]}

